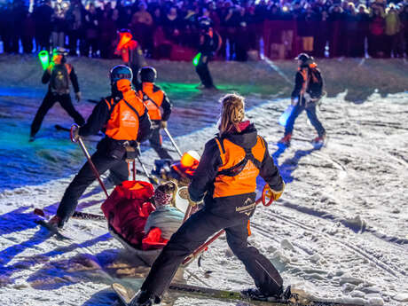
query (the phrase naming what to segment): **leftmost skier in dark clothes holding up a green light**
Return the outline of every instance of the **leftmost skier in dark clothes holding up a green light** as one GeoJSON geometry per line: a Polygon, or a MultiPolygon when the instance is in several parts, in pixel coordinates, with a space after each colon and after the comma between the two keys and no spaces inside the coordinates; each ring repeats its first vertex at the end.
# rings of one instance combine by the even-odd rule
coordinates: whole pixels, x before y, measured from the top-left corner
{"type": "Polygon", "coordinates": [[[66,112],[75,120],[75,123],[82,125],[85,123],[82,115],[76,111],[72,104],[71,96],[69,95],[69,82],[72,83],[75,90],[75,98],[79,102],[81,100],[81,91],[79,90],[78,78],[76,77],[74,67],[67,64],[67,51],[64,48],[56,48],[52,51],[52,62],[43,73],[43,84],[50,82],[48,92],[43,99],[43,103],[38,108],[33,123],[31,123],[31,132],[29,141],[35,140],[35,134],[43,123],[43,118],[55,104],[59,104],[66,112]]]}

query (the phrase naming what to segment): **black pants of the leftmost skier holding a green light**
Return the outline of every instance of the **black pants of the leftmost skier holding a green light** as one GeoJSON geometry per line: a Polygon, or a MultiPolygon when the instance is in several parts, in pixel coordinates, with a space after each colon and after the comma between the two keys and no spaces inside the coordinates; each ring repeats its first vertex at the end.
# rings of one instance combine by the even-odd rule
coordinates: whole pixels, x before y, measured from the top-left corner
{"type": "Polygon", "coordinates": [[[48,91],[45,95],[45,98],[43,99],[43,103],[41,104],[40,108],[38,108],[37,113],[35,114],[33,123],[31,123],[31,136],[34,137],[38,132],[41,127],[41,123],[43,123],[45,115],[56,102],[59,102],[62,108],[64,108],[66,112],[74,119],[76,124],[85,124],[85,120],[83,119],[82,115],[79,114],[78,111],[76,111],[74,105],[72,104],[71,96],[69,94],[56,95],[51,91],[48,91]]]}

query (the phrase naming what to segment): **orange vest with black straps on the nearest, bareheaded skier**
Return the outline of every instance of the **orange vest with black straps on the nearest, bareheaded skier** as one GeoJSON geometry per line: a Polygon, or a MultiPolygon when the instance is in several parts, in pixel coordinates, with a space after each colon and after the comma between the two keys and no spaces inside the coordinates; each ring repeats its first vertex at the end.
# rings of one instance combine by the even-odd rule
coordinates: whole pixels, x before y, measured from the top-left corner
{"type": "Polygon", "coordinates": [[[255,192],[266,146],[258,136],[256,144],[245,150],[228,139],[216,137],[223,165],[218,168],[213,198],[255,192]]]}

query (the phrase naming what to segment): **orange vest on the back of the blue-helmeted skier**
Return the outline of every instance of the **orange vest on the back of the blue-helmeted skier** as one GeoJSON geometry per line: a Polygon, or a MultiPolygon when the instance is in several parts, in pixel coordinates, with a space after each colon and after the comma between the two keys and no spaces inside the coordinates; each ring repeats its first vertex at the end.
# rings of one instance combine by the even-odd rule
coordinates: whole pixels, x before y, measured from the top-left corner
{"type": "Polygon", "coordinates": [[[116,140],[137,140],[139,118],[145,114],[145,105],[134,90],[122,92],[123,98],[115,102],[105,100],[111,117],[106,123],[105,134],[116,140]]]}

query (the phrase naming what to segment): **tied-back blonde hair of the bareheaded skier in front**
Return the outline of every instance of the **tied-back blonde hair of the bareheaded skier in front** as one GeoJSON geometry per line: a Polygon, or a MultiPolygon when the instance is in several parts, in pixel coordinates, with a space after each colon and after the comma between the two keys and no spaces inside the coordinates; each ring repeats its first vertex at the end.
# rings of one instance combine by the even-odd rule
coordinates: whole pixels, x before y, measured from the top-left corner
{"type": "Polygon", "coordinates": [[[218,127],[220,130],[220,136],[223,137],[226,133],[230,132],[233,128],[238,131],[238,123],[242,122],[245,118],[245,99],[238,94],[232,93],[225,95],[220,99],[223,105],[221,111],[221,122],[218,127]]]}

